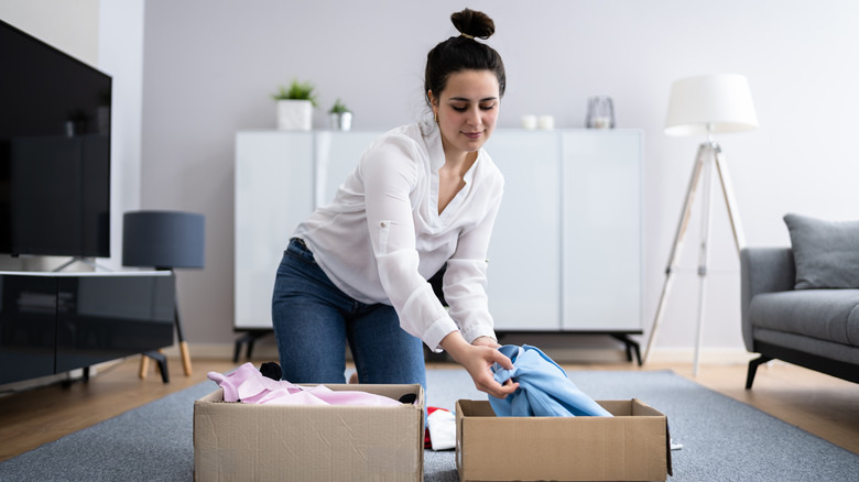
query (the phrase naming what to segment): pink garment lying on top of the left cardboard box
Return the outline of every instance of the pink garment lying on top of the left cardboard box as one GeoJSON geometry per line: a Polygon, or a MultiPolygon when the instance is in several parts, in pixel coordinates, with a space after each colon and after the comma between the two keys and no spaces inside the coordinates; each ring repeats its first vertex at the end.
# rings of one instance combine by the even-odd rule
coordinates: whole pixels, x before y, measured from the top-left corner
{"type": "Polygon", "coordinates": [[[359,391],[333,391],[324,385],[298,386],[285,380],[263,376],[252,363],[244,363],[226,375],[209,372],[209,380],[224,388],[224,402],[272,405],[361,405],[394,406],[400,402],[359,391]]]}

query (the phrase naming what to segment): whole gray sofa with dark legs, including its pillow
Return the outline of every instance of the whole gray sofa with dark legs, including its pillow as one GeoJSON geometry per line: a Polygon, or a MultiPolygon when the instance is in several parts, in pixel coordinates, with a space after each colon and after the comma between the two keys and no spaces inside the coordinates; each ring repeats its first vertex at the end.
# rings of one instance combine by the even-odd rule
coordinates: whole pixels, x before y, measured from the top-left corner
{"type": "Polygon", "coordinates": [[[789,213],[791,248],[740,251],[746,388],[773,359],[859,383],[859,221],[789,213]]]}

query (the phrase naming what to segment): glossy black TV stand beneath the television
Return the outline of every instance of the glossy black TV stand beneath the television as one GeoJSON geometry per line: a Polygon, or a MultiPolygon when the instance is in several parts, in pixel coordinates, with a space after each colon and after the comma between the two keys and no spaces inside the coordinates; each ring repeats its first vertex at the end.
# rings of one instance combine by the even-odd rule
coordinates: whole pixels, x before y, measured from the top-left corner
{"type": "Polygon", "coordinates": [[[0,272],[0,384],[145,354],[168,382],[175,277],[170,271],[0,272]]]}

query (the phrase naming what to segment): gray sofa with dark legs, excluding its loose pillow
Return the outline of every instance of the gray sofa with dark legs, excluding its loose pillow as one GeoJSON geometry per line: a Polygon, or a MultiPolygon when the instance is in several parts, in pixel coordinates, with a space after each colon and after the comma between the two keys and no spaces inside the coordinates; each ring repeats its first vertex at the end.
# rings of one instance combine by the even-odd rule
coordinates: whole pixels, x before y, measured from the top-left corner
{"type": "Polygon", "coordinates": [[[859,383],[859,289],[803,285],[791,248],[743,249],[740,275],[742,338],[761,354],[749,362],[747,390],[773,359],[859,383]]]}

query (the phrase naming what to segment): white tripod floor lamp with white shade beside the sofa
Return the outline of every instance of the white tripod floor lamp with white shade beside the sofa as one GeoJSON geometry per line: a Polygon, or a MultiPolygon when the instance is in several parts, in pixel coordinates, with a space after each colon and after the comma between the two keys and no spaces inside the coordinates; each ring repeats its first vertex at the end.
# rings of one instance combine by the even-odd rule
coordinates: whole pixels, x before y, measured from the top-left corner
{"type": "Polygon", "coordinates": [[[677,232],[674,235],[674,244],[671,248],[668,265],[665,269],[665,284],[662,287],[662,296],[656,306],[656,315],[650,330],[648,347],[644,351],[644,362],[650,357],[653,341],[659,330],[662,317],[665,314],[665,304],[671,294],[672,282],[679,262],[679,253],[683,239],[689,221],[692,205],[698,187],[702,193],[702,219],[700,219],[700,248],[698,251],[698,314],[695,341],[695,365],[693,375],[698,374],[698,361],[702,342],[702,327],[707,285],[707,262],[709,260],[710,243],[710,212],[711,212],[711,178],[714,167],[718,172],[725,204],[728,208],[733,241],[737,252],[744,244],[742,227],[740,226],[737,202],[733,199],[733,189],[728,175],[728,165],[721,153],[719,144],[713,141],[713,134],[725,132],[740,132],[755,129],[758,116],[754,112],[749,83],[746,77],[735,74],[720,74],[702,77],[685,78],[675,81],[671,87],[668,101],[668,114],[665,120],[665,133],[668,135],[707,135],[707,142],[698,147],[695,166],[692,171],[692,179],[686,190],[686,200],[681,212],[677,232]]]}

